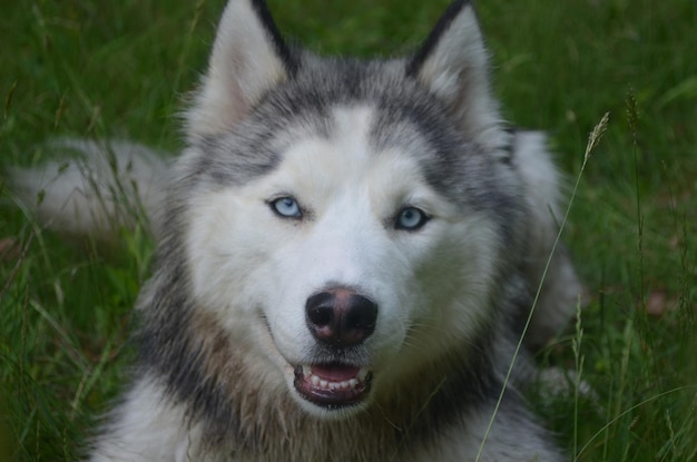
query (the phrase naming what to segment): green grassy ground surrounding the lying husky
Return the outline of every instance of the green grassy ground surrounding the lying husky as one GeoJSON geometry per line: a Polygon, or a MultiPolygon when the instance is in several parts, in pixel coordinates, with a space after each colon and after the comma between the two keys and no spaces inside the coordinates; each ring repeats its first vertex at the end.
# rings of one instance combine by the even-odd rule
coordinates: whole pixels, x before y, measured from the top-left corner
{"type": "MultiPolygon", "coordinates": [[[[269,3],[310,47],[365,56],[413,46],[448,1],[269,3]]],[[[175,115],[222,7],[2,2],[1,165],[38,165],[39,142],[66,134],[178,148],[175,115]]],[[[697,460],[697,3],[478,8],[507,117],[548,129],[570,178],[610,112],[567,227],[591,302],[577,332],[540,357],[579,370],[595,399],[531,400],[578,460],[697,460]]],[[[0,195],[0,460],[73,460],[122,385],[153,244],[125,234],[125,250],[105,257],[41,230],[0,195]]]]}

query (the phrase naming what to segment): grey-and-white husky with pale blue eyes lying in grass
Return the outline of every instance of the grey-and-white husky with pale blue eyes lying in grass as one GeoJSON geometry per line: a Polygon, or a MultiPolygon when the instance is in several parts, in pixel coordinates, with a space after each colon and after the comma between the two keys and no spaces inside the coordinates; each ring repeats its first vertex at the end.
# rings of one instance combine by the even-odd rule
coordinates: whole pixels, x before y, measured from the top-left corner
{"type": "MultiPolygon", "coordinates": [[[[565,460],[522,394],[580,292],[559,177],[542,135],[502,122],[470,2],[413,55],[360,60],[230,0],[186,140],[166,175],[109,147],[164,212],[132,384],[92,461],[565,460]]],[[[90,188],[59,183],[42,212],[97,227],[70,217],[90,188]]]]}

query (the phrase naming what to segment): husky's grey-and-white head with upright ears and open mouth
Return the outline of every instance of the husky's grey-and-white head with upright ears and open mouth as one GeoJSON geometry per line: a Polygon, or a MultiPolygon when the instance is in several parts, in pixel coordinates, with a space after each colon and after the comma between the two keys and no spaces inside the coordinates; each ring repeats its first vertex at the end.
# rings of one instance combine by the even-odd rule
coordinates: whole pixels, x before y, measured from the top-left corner
{"type": "Polygon", "coordinates": [[[177,167],[185,259],[246,366],[308,412],[386,397],[489,328],[521,205],[487,60],[467,1],[387,61],[289,48],[262,1],[227,6],[177,167]]]}

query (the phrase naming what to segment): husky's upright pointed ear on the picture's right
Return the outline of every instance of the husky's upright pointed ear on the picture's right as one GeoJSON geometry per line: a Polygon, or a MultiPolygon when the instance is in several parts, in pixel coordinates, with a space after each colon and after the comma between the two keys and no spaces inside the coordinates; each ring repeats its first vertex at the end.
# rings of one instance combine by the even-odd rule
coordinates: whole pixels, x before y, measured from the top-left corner
{"type": "Polygon", "coordinates": [[[489,83],[489,53],[471,2],[457,0],[448,8],[408,62],[406,73],[443,101],[470,137],[495,145],[500,117],[489,83]]]}

